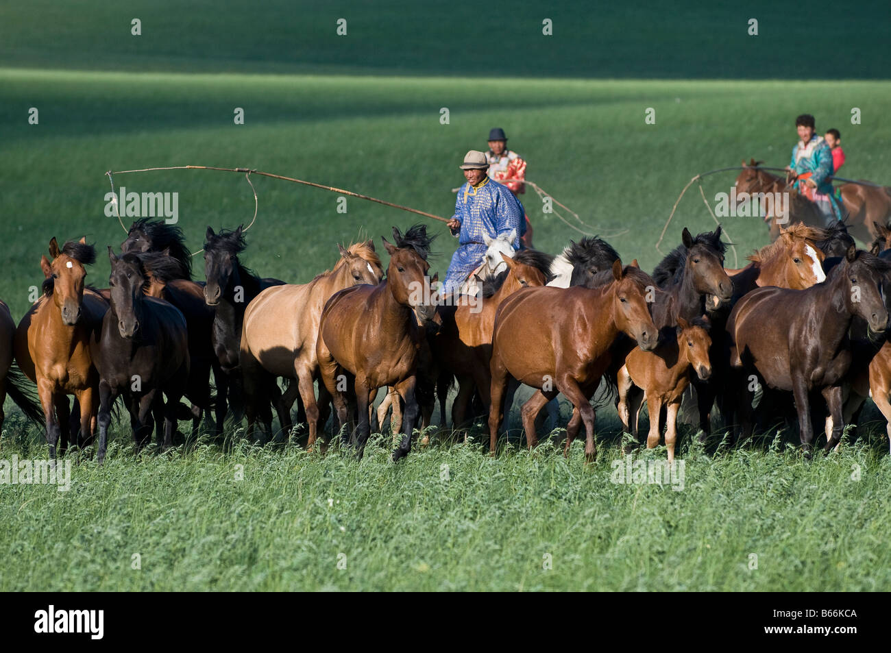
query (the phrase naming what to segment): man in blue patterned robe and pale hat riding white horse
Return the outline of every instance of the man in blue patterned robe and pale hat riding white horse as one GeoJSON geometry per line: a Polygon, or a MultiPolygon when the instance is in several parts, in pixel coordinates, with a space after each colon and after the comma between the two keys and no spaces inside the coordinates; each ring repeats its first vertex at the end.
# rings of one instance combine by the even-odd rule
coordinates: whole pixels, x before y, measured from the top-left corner
{"type": "MultiPolygon", "coordinates": [[[[483,262],[486,256],[484,236],[497,238],[502,233],[516,230],[522,236],[523,205],[504,185],[487,175],[489,162],[486,154],[470,150],[464,155],[461,169],[467,182],[458,189],[454,204],[454,216],[448,227],[458,236],[458,249],[448,266],[443,295],[459,290],[483,262]]],[[[519,237],[513,241],[513,248],[519,249],[519,237]]]]}

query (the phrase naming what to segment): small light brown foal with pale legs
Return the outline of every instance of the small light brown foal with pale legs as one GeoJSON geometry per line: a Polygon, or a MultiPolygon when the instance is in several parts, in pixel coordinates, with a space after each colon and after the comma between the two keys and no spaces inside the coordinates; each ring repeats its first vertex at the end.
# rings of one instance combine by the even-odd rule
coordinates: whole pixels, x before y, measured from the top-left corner
{"type": "Polygon", "coordinates": [[[708,360],[707,322],[692,324],[679,317],[677,337],[667,339],[652,351],[634,347],[625,357],[625,365],[618,371],[618,415],[626,432],[637,438],[637,421],[643,402],[650,412],[650,435],[647,448],[659,444],[662,425],[659,415],[666,407],[666,448],[668,461],[674,461],[674,444],[677,441],[677,412],[681,407],[683,391],[690,386],[691,372],[699,380],[707,380],[712,373],[708,360]],[[634,421],[632,421],[634,420],[634,421]],[[630,427],[630,428],[629,428],[630,427]]]}

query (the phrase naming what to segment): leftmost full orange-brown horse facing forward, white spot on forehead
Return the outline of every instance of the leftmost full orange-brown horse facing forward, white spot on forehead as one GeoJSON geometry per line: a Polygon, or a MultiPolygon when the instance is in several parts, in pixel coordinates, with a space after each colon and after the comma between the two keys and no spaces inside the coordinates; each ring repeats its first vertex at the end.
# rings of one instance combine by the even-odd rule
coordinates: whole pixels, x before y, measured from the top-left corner
{"type": "Polygon", "coordinates": [[[86,239],[68,241],[59,248],[50,241],[52,263],[41,257],[46,277],[44,295],[37,299],[19,322],[15,334],[15,358],[21,371],[37,383],[37,395],[46,420],[50,457],[68,445],[68,396],[80,405],[80,435],[77,444],[92,441],[99,409],[99,374],[90,355],[90,339],[102,327],[108,302],[93,290],[85,290],[86,269],[96,259],[86,239]]]}

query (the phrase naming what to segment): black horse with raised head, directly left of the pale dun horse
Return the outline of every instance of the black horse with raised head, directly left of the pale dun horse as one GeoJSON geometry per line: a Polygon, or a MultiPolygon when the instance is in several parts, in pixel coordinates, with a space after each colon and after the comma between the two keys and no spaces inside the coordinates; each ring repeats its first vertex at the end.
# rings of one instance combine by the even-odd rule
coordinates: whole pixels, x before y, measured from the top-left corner
{"type": "MultiPolygon", "coordinates": [[[[244,310],[261,290],[281,286],[279,279],[261,279],[249,268],[241,265],[238,255],[247,247],[241,225],[234,231],[221,229],[219,233],[208,226],[204,241],[204,301],[215,309],[210,340],[220,369],[228,378],[228,399],[237,420],[244,412],[241,392],[241,325],[244,310]]],[[[277,391],[277,387],[276,387],[277,391]]],[[[217,383],[217,404],[222,399],[217,383]]],[[[274,403],[281,395],[271,397],[274,403]]]]}

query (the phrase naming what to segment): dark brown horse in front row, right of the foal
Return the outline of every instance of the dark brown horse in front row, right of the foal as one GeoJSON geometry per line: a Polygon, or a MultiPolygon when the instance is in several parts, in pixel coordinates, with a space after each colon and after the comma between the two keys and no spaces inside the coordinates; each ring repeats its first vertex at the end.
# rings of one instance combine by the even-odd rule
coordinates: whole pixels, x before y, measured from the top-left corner
{"type": "Polygon", "coordinates": [[[851,247],[824,283],[806,290],[759,288],[740,299],[726,331],[737,390],[730,395],[737,400],[744,436],[752,427],[747,374],[757,371],[767,387],[793,393],[808,453],[813,440],[808,395],[820,390],[832,418],[826,451],[838,444],[845,426],[841,384],[852,360],[848,331],[855,315],[872,331],[886,330],[880,284],[889,271],[887,261],[851,247]]]}

